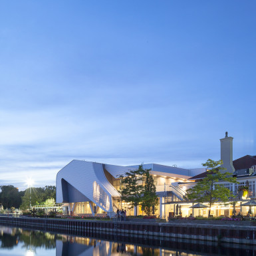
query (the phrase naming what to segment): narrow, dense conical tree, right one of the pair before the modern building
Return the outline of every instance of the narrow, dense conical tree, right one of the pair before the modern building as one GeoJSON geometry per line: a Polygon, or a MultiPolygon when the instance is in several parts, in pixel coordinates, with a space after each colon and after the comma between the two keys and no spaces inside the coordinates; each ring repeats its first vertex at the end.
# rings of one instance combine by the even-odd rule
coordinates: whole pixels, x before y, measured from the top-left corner
{"type": "Polygon", "coordinates": [[[144,207],[144,211],[147,215],[151,215],[151,213],[157,209],[158,196],[156,195],[156,186],[153,177],[150,175],[150,170],[145,170],[144,176],[146,176],[146,179],[144,196],[142,197],[142,207],[144,207]]]}

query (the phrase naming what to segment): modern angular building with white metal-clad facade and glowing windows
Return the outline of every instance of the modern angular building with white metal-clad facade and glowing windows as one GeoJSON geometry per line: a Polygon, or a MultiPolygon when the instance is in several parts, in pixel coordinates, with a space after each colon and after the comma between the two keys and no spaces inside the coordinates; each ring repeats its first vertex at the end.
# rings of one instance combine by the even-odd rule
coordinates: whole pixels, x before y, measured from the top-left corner
{"type": "MultiPolygon", "coordinates": [[[[57,203],[65,203],[68,211],[76,215],[112,215],[117,209],[125,208],[128,215],[144,214],[140,207],[130,209],[120,201],[118,176],[138,166],[114,166],[96,162],[73,160],[57,174],[57,203]]],[[[164,204],[167,198],[173,201],[183,199],[186,192],[180,188],[180,182],[190,182],[188,179],[205,169],[187,170],[174,166],[160,164],[143,164],[144,169],[150,169],[154,177],[156,192],[160,197],[160,207],[156,215],[164,217],[168,209],[164,204]]]]}

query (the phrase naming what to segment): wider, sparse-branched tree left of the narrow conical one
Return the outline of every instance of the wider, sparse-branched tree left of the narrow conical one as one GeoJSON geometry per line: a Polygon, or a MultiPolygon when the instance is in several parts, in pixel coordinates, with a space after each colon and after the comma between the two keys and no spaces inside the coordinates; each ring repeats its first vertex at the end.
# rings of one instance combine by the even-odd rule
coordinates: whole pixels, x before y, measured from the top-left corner
{"type": "Polygon", "coordinates": [[[144,187],[142,185],[143,174],[144,170],[141,165],[138,170],[131,170],[124,175],[118,176],[121,179],[119,190],[121,199],[130,203],[130,207],[137,207],[142,202],[144,193],[144,187]]]}

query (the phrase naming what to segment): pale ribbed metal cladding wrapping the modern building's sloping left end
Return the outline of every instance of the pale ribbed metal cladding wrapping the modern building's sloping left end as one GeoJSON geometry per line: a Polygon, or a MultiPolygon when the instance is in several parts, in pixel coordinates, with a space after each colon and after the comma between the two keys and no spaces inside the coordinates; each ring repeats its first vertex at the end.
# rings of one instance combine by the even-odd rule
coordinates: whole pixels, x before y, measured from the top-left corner
{"type": "Polygon", "coordinates": [[[57,174],[56,201],[58,203],[63,202],[63,188],[61,186],[61,180],[65,180],[66,182],[68,182],[68,184],[76,188],[76,190],[78,190],[80,193],[85,195],[88,199],[90,199],[90,201],[94,201],[94,203],[96,203],[96,201],[93,199],[94,182],[97,182],[100,188],[102,188],[102,190],[104,190],[104,192],[106,192],[106,194],[109,197],[111,197],[111,193],[108,192],[107,186],[106,186],[106,182],[108,181],[106,180],[106,177],[104,177],[104,172],[102,167],[100,170],[100,165],[102,166],[102,164],[73,160],[67,166],[65,166],[57,174]],[[94,168],[96,168],[96,172],[94,168]],[[102,174],[100,174],[100,172],[102,172],[102,174]]]}

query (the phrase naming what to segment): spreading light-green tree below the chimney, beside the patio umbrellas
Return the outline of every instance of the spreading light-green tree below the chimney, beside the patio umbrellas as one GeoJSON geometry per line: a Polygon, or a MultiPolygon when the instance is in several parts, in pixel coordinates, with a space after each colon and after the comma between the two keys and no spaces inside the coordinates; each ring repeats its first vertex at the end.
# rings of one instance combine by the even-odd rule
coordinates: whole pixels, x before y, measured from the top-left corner
{"type": "Polygon", "coordinates": [[[225,170],[221,165],[223,164],[222,160],[213,161],[208,159],[205,166],[209,171],[206,173],[206,177],[202,180],[199,180],[193,188],[190,188],[188,192],[188,199],[195,200],[198,202],[208,202],[209,203],[209,212],[208,217],[211,213],[211,205],[216,201],[221,201],[226,203],[229,201],[229,197],[233,195],[233,193],[225,188],[223,184],[219,184],[219,182],[231,182],[238,184],[235,177],[232,176],[231,173],[225,172],[221,173],[221,170],[225,170]]]}

